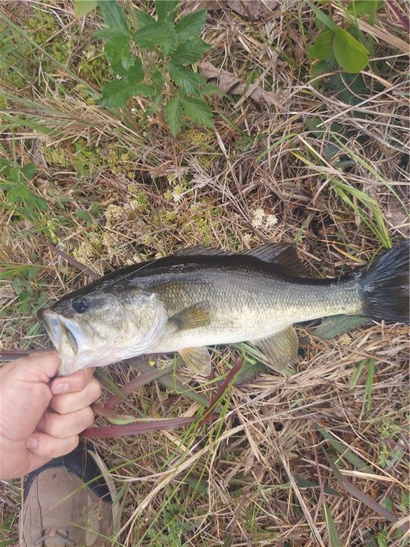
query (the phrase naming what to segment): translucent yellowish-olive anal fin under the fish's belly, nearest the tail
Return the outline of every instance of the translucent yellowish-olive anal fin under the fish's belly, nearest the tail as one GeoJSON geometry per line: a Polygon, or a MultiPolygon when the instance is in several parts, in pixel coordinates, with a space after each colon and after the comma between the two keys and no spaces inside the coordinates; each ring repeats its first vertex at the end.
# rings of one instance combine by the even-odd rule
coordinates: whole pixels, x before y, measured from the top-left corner
{"type": "Polygon", "coordinates": [[[269,336],[269,338],[253,340],[252,343],[269,360],[277,363],[281,368],[286,368],[287,365],[298,360],[298,336],[292,325],[269,336]]]}

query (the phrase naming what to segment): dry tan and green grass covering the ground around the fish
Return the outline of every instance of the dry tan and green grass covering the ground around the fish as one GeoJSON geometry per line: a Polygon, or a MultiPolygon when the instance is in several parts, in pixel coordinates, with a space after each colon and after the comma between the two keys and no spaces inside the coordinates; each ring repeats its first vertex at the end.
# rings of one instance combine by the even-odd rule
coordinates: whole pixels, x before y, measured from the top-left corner
{"type": "MultiPolygon", "coordinates": [[[[359,21],[373,40],[359,83],[311,73],[318,31],[307,5],[280,1],[254,21],[227,4],[210,9],[204,60],[280,103],[213,96],[214,130],[192,125],[177,138],[144,119],[144,99],[115,113],[96,104],[110,78],[93,38],[98,13],[75,19],[68,0],[1,4],[0,157],[35,163],[25,184],[46,209],[28,214],[0,195],[0,347],[49,346],[34,313],[90,281],[78,263],[102,274],[189,245],[284,240],[298,241],[312,275],[337,276],[408,237],[409,59],[395,15],[406,3],[390,4],[374,25],[359,21]]],[[[298,333],[295,373],[231,385],[214,423],[95,442],[120,491],[117,546],[407,544],[408,329],[298,333]]],[[[237,357],[216,354],[204,382],[178,368],[177,390],[150,382],[118,411],[192,415],[237,357]]],[[[116,385],[137,375],[103,372],[116,385]]],[[[1,485],[2,545],[16,541],[20,496],[20,481],[1,485]]]]}

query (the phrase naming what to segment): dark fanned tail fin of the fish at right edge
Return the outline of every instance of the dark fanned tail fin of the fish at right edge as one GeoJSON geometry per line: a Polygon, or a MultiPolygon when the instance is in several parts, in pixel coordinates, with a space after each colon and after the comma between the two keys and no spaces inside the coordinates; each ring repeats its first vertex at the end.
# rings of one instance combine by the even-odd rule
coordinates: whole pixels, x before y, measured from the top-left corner
{"type": "Polygon", "coordinates": [[[382,254],[360,272],[364,314],[372,319],[409,320],[410,240],[382,254]]]}

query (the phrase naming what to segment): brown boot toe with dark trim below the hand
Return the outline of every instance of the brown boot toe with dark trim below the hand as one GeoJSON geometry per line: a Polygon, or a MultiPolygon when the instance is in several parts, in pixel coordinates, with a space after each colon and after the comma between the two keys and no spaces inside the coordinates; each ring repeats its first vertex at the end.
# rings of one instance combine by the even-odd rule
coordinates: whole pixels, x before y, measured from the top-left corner
{"type": "Polygon", "coordinates": [[[115,486],[93,450],[70,454],[27,476],[19,521],[21,547],[107,547],[117,529],[115,486]]]}

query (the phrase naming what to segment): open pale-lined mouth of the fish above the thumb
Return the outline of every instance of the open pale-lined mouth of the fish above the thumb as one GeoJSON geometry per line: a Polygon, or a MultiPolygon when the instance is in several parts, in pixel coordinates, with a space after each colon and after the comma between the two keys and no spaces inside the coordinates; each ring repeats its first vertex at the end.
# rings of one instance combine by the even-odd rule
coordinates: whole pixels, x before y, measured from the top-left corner
{"type": "Polygon", "coordinates": [[[37,317],[43,323],[46,333],[58,353],[61,355],[68,353],[71,356],[78,353],[78,327],[72,321],[49,308],[39,310],[37,317]]]}

